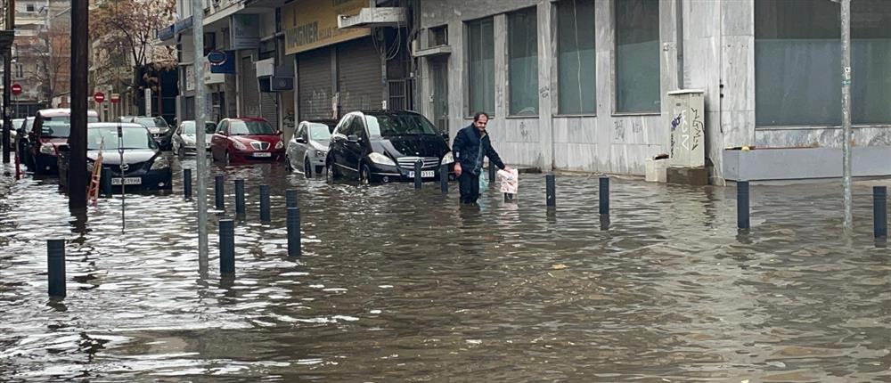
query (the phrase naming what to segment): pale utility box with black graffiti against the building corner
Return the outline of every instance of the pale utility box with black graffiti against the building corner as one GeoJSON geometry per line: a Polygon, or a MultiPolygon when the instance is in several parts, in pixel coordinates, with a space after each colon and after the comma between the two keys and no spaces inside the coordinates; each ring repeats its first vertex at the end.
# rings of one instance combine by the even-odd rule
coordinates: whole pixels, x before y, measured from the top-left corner
{"type": "Polygon", "coordinates": [[[703,102],[705,91],[682,89],[668,92],[671,132],[668,152],[669,167],[706,166],[706,110],[703,102]]]}

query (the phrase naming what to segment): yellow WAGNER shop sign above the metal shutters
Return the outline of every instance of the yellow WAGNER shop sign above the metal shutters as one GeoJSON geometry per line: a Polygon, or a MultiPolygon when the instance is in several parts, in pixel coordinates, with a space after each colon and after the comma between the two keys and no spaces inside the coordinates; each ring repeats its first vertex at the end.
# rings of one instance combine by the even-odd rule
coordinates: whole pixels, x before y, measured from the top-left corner
{"type": "Polygon", "coordinates": [[[356,15],[368,0],[295,0],[284,6],[285,54],[305,52],[371,34],[371,29],[339,29],[339,14],[356,15]]]}

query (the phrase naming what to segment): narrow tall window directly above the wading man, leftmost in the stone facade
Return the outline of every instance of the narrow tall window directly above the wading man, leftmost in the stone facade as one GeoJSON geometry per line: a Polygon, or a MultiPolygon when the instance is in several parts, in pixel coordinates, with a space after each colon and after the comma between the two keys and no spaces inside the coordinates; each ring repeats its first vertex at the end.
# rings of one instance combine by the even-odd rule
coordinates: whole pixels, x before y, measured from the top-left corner
{"type": "Polygon", "coordinates": [[[495,115],[495,35],[492,18],[467,23],[470,113],[495,115]]]}

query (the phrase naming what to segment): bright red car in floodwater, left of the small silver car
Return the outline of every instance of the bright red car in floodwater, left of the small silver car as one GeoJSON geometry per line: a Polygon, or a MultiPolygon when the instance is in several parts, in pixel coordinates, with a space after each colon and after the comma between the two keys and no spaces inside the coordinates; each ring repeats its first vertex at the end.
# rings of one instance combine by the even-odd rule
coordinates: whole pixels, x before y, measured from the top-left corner
{"type": "Polygon", "coordinates": [[[210,139],[210,153],[225,162],[279,161],[284,157],[282,132],[263,118],[224,118],[210,139]]]}

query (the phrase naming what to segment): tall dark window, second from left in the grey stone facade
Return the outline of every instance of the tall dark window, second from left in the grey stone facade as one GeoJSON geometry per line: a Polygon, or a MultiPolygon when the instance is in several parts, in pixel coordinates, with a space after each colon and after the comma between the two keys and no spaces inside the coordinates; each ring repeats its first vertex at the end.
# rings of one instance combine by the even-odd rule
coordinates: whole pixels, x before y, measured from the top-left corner
{"type": "Polygon", "coordinates": [[[511,116],[538,115],[538,22],[535,8],[508,14],[511,116]]]}

